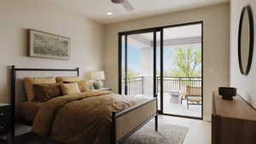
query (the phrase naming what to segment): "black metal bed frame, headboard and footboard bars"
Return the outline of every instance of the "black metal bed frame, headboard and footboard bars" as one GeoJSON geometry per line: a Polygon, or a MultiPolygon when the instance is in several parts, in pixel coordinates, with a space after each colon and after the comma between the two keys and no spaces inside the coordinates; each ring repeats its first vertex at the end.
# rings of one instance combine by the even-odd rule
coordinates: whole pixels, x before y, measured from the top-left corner
{"type": "MultiPolygon", "coordinates": [[[[15,136],[15,85],[16,85],[16,72],[18,71],[34,71],[34,72],[77,72],[77,77],[79,77],[79,67],[75,68],[75,69],[48,69],[48,68],[15,68],[15,66],[11,66],[11,137],[15,136]]],[[[111,129],[110,129],[110,133],[111,133],[111,137],[110,137],[110,142],[111,144],[119,144],[122,141],[125,141],[129,136],[131,136],[132,134],[134,134],[137,130],[139,130],[141,127],[143,127],[144,124],[147,124],[148,121],[150,121],[152,118],[155,118],[154,120],[154,129],[155,131],[158,130],[158,115],[157,115],[157,97],[152,99],[151,101],[146,101],[143,104],[137,105],[136,107],[130,107],[128,109],[126,109],[125,111],[122,112],[112,112],[112,124],[111,124],[111,129]],[[129,132],[128,134],[126,134],[125,136],[123,136],[119,141],[116,141],[116,119],[125,115],[128,112],[131,112],[139,107],[143,107],[144,105],[152,102],[152,101],[156,101],[156,112],[154,113],[154,115],[152,115],[150,118],[147,118],[143,124],[140,124],[137,126],[137,128],[135,128],[134,130],[131,130],[131,132],[129,132]]],[[[26,121],[18,121],[18,123],[20,124],[26,124],[26,125],[31,125],[30,123],[26,122],[26,121]]]]}

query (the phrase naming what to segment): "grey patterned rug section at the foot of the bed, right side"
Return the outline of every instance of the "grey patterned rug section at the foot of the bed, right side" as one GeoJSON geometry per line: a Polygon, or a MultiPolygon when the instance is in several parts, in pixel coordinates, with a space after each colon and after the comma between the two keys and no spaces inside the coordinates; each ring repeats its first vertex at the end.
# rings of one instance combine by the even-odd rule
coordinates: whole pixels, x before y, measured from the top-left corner
{"type": "Polygon", "coordinates": [[[122,144],[182,144],[189,128],[159,123],[154,131],[154,120],[145,124],[122,144]]]}

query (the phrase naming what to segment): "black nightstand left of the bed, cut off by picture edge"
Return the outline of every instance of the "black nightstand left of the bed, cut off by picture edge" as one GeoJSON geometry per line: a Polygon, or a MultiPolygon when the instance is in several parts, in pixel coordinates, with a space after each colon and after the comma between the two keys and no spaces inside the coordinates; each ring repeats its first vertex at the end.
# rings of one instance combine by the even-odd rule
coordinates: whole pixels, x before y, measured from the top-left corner
{"type": "Polygon", "coordinates": [[[11,132],[11,106],[0,103],[0,135],[7,135],[11,132]]]}

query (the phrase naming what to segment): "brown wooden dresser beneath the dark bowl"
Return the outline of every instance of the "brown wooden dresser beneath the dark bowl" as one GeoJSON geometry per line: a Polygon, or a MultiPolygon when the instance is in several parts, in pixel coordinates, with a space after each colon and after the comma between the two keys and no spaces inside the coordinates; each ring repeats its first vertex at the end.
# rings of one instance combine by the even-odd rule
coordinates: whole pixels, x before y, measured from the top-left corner
{"type": "Polygon", "coordinates": [[[222,100],[213,93],[212,144],[256,144],[256,110],[240,96],[222,100]]]}

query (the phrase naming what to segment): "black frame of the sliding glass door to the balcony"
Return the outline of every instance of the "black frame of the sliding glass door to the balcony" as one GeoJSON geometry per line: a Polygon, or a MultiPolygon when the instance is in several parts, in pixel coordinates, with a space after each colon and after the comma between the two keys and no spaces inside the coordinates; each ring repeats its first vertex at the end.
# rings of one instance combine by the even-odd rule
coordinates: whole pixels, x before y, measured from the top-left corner
{"type": "MultiPolygon", "coordinates": [[[[157,27],[151,27],[151,28],[144,28],[144,29],[138,29],[138,30],[132,30],[132,31],[126,31],[126,32],[119,32],[119,94],[122,94],[122,37],[125,36],[125,51],[127,50],[127,36],[131,34],[141,34],[141,33],[147,33],[147,32],[154,32],[154,97],[157,96],[156,94],[156,32],[160,32],[160,114],[168,115],[168,116],[175,116],[175,117],[181,117],[181,118],[194,118],[194,119],[203,119],[203,106],[204,106],[204,61],[203,61],[203,55],[204,55],[204,22],[203,20],[200,21],[194,21],[194,22],[187,22],[187,23],[181,23],[181,24],[174,24],[169,26],[157,26],[157,27]],[[201,24],[201,118],[199,117],[192,117],[192,116],[183,116],[183,115],[176,115],[176,114],[169,114],[163,112],[163,70],[164,70],[164,60],[163,60],[163,30],[164,28],[170,28],[170,27],[177,27],[177,26],[189,26],[189,25],[198,25],[201,24]]],[[[127,64],[127,51],[125,52],[125,63],[127,64]]],[[[127,66],[127,65],[126,65],[127,66]]],[[[126,67],[125,66],[125,67],[126,67]]],[[[127,67],[125,68],[125,75],[127,74],[127,67]]],[[[127,75],[126,75],[127,76],[127,75]]],[[[127,78],[127,77],[125,77],[127,78]]],[[[125,83],[127,83],[127,79],[125,80],[125,83]]],[[[125,93],[127,92],[127,84],[125,84],[125,93]]]]}

